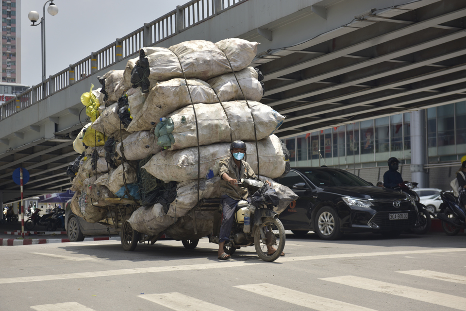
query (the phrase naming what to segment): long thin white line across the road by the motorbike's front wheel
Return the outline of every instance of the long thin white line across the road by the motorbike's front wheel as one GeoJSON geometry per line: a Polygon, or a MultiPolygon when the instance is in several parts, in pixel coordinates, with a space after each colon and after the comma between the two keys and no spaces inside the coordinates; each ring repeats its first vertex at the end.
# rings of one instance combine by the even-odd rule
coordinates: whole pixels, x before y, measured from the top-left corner
{"type": "MultiPolygon", "coordinates": [[[[424,250],[414,250],[414,251],[392,251],[392,252],[374,252],[374,253],[316,255],[316,256],[301,256],[301,257],[280,257],[279,259],[277,259],[277,262],[335,259],[335,258],[354,258],[354,257],[369,257],[369,256],[387,256],[387,255],[405,255],[405,254],[450,253],[450,252],[466,252],[466,248],[444,248],[444,249],[431,249],[431,250],[424,249],[424,250]]],[[[50,280],[61,280],[61,279],[67,279],[67,278],[118,276],[118,275],[128,275],[128,274],[138,274],[138,273],[166,272],[166,271],[232,268],[232,267],[250,266],[250,265],[255,265],[255,264],[265,264],[265,263],[266,262],[262,260],[261,261],[258,260],[256,262],[231,260],[231,261],[225,261],[225,262],[213,262],[213,263],[194,264],[194,265],[134,268],[134,269],[81,272],[81,273],[70,273],[70,274],[48,275],[48,276],[9,277],[9,278],[0,278],[0,284],[50,281],[50,280]]]]}

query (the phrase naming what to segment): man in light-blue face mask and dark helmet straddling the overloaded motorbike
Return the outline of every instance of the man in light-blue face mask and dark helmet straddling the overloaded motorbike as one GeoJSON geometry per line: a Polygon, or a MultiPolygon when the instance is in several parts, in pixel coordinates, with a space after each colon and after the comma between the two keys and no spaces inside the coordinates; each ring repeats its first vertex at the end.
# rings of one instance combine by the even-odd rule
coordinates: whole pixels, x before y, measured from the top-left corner
{"type": "MultiPolygon", "coordinates": [[[[235,183],[242,178],[256,178],[248,162],[244,161],[246,154],[246,144],[241,140],[235,140],[230,145],[231,156],[219,162],[220,187],[223,188],[223,195],[220,203],[223,207],[223,221],[220,226],[218,240],[218,259],[228,260],[231,256],[223,251],[225,242],[230,241],[232,231],[234,212],[240,200],[248,200],[248,189],[240,187],[235,183]]],[[[268,180],[265,181],[271,186],[268,180]]],[[[267,246],[268,254],[276,251],[272,246],[267,246]]],[[[284,253],[282,253],[284,256],[284,253]]]]}

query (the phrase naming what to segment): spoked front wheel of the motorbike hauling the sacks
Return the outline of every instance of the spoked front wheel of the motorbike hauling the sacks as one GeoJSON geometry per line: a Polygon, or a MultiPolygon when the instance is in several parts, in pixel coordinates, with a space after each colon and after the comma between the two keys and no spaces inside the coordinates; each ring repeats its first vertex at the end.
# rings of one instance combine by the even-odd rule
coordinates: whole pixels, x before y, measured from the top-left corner
{"type": "Polygon", "coordinates": [[[276,218],[267,218],[254,232],[254,247],[259,258],[264,261],[275,261],[285,248],[285,228],[282,222],[276,218]],[[262,234],[264,235],[264,239],[262,234]],[[275,247],[273,254],[268,254],[268,247],[275,247]]]}

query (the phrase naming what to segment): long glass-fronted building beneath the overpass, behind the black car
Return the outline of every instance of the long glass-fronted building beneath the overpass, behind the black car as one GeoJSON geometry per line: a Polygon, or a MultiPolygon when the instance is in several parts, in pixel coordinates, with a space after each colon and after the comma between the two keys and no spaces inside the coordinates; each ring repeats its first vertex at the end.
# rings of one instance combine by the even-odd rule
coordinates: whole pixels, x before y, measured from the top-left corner
{"type": "MultiPolygon", "coordinates": [[[[425,109],[425,164],[454,162],[466,155],[466,102],[425,109]]],[[[387,166],[395,156],[411,163],[411,113],[354,122],[283,139],[291,166],[364,169],[387,166]]],[[[373,180],[369,180],[374,182],[373,180]]]]}

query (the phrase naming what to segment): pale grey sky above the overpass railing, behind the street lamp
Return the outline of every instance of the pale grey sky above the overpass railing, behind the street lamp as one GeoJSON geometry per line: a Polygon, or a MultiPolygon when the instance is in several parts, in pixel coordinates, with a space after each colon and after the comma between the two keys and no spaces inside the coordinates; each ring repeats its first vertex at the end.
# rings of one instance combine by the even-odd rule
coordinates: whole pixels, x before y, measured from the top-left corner
{"type": "MultiPolygon", "coordinates": [[[[30,11],[43,15],[46,0],[21,0],[21,83],[41,82],[41,26],[32,27],[30,11]]],[[[91,52],[115,42],[188,0],[54,0],[59,12],[47,13],[46,75],[68,68],[91,52]]],[[[17,17],[17,19],[19,19],[17,17]]]]}

